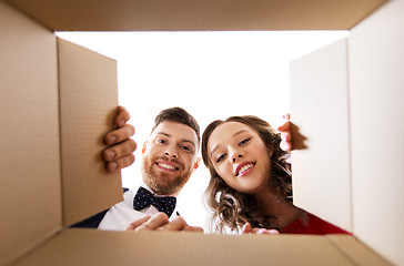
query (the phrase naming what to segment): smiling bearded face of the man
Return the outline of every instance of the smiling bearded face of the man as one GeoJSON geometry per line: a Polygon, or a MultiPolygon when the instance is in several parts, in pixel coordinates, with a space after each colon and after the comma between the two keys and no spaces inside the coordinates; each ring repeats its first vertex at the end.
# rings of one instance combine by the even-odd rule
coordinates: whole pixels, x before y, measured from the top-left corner
{"type": "Polygon", "coordinates": [[[164,121],[143,146],[142,178],[159,195],[178,195],[199,165],[195,131],[164,121]]]}

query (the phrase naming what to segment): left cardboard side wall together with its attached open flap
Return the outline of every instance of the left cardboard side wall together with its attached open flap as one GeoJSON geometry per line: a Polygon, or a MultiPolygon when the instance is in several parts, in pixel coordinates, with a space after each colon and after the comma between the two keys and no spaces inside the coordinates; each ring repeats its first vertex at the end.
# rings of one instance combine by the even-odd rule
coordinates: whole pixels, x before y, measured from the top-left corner
{"type": "Polygon", "coordinates": [[[122,187],[101,158],[118,112],[117,62],[3,2],[0,13],[4,264],[122,201],[122,187]]]}

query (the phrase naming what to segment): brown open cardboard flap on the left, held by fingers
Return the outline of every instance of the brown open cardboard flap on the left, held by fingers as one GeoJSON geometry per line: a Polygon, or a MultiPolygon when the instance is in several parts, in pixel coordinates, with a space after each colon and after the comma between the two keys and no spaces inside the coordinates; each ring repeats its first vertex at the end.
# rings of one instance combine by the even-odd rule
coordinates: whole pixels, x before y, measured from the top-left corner
{"type": "Polygon", "coordinates": [[[103,136],[118,113],[117,62],[58,39],[63,225],[122,201],[121,175],[108,173],[103,136]]]}

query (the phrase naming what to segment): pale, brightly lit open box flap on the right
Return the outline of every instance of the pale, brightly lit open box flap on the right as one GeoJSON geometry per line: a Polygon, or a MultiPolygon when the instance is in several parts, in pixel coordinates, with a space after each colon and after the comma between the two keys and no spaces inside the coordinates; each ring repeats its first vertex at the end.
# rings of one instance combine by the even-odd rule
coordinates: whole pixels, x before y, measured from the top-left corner
{"type": "Polygon", "coordinates": [[[291,62],[290,76],[307,146],[292,151],[293,202],[352,232],[346,39],[291,62]]]}

